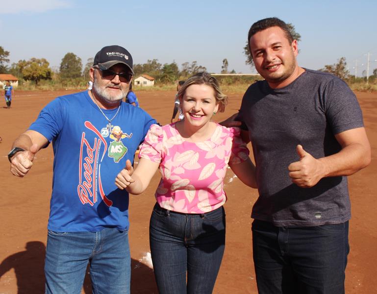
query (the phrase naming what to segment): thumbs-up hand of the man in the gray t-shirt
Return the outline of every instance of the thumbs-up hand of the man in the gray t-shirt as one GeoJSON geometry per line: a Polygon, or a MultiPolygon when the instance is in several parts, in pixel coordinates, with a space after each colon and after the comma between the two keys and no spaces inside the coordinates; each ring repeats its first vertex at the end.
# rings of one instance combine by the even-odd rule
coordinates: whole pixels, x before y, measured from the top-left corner
{"type": "Polygon", "coordinates": [[[313,187],[323,177],[323,164],[306,152],[301,145],[297,145],[296,152],[299,161],[288,166],[289,177],[301,188],[313,187]]]}

